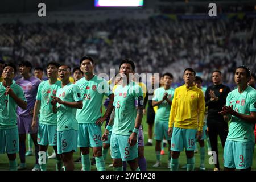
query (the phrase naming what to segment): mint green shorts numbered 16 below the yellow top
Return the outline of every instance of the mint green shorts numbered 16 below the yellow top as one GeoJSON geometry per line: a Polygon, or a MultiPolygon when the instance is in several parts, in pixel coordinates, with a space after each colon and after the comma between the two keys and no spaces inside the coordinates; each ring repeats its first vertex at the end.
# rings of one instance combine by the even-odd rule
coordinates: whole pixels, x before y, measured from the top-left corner
{"type": "Polygon", "coordinates": [[[186,151],[196,150],[196,133],[197,129],[181,129],[174,127],[172,130],[171,150],[172,151],[186,151]]]}

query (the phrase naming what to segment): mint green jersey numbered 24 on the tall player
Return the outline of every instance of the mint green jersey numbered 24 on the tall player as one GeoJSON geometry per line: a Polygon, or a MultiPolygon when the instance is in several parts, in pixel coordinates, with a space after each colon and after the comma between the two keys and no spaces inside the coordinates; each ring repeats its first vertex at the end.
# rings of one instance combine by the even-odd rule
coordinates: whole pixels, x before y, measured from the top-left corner
{"type": "Polygon", "coordinates": [[[91,80],[85,77],[76,82],[82,95],[82,109],[77,110],[78,123],[95,123],[101,117],[101,105],[104,95],[109,96],[112,91],[109,84],[101,77],[94,75],[91,80]]]}

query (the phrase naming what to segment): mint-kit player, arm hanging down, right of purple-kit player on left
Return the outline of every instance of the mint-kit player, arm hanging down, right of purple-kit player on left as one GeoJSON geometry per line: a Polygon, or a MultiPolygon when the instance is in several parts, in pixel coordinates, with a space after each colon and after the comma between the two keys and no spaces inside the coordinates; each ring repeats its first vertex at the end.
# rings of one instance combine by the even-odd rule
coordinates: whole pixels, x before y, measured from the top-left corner
{"type": "MultiPolygon", "coordinates": [[[[39,151],[47,151],[48,145],[53,146],[57,154],[57,115],[53,113],[51,96],[56,96],[57,90],[61,88],[61,81],[57,80],[59,64],[50,62],[47,64],[48,80],[39,84],[38,94],[34,107],[34,115],[32,120],[32,128],[37,125],[40,110],[39,126],[38,126],[38,144],[39,151]]],[[[41,171],[46,171],[47,164],[40,164],[41,171]]],[[[56,170],[60,171],[62,167],[61,156],[56,155],[56,170]]]]}

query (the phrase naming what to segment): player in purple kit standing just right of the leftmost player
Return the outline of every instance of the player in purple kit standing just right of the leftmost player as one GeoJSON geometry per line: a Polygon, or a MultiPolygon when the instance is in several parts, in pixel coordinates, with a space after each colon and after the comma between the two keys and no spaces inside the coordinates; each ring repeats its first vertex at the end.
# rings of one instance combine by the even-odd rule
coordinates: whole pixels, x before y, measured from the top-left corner
{"type": "Polygon", "coordinates": [[[18,170],[26,169],[25,164],[25,153],[26,153],[26,134],[30,134],[31,138],[35,145],[35,157],[36,164],[32,171],[39,171],[40,167],[38,164],[38,142],[37,142],[37,133],[38,127],[32,130],[32,117],[33,110],[36,101],[36,93],[38,92],[38,86],[40,84],[40,80],[34,76],[31,76],[32,65],[28,61],[23,61],[19,64],[19,72],[22,78],[19,78],[16,81],[16,84],[22,87],[23,92],[25,93],[25,97],[27,100],[27,109],[23,110],[18,107],[18,130],[19,130],[19,158],[20,165],[18,170]]]}

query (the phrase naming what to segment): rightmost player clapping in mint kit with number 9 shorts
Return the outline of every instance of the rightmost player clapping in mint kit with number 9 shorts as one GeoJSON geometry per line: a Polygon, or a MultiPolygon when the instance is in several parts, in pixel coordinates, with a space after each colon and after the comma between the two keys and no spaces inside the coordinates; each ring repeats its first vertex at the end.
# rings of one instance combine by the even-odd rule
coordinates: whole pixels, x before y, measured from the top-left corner
{"type": "Polygon", "coordinates": [[[224,147],[224,170],[251,170],[254,151],[254,124],[256,122],[256,90],[247,85],[250,69],[237,67],[234,81],[237,89],[228,94],[226,105],[220,111],[230,121],[224,147]]]}

